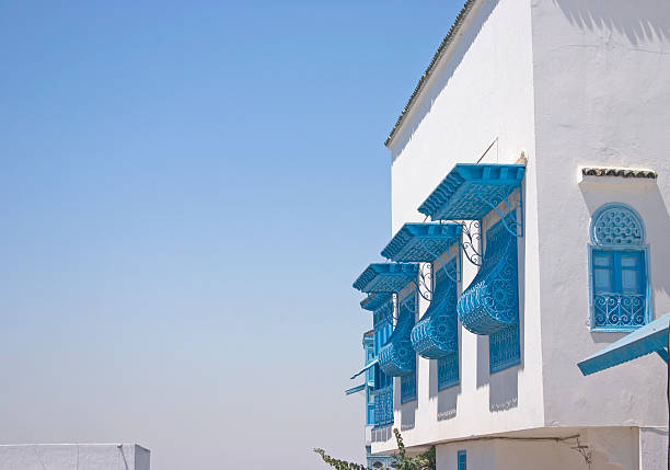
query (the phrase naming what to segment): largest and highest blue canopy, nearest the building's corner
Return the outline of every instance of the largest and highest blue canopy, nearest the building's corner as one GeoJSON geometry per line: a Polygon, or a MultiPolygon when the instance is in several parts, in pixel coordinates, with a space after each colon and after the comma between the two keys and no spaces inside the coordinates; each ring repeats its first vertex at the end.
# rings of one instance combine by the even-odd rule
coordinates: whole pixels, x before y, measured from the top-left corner
{"type": "Polygon", "coordinates": [[[481,220],[521,185],[522,164],[458,163],[418,211],[431,220],[481,220]]]}

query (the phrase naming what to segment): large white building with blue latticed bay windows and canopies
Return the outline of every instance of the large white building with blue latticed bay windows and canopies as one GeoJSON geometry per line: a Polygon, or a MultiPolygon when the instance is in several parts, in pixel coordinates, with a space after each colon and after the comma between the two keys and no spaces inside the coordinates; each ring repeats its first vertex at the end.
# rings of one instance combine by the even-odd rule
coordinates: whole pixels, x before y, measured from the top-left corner
{"type": "Polygon", "coordinates": [[[668,1],[465,3],[385,142],[390,263],[355,283],[394,377],[373,452],[397,427],[439,470],[666,468],[662,360],[577,363],[670,311],[668,137],[668,1]]]}

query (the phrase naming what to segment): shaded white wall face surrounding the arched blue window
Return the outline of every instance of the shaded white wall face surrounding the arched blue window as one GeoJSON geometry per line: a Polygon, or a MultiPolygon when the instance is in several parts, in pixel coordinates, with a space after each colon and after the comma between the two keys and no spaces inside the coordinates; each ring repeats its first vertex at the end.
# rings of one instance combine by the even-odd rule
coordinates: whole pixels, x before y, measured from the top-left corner
{"type": "Polygon", "coordinates": [[[622,336],[588,326],[589,223],[602,204],[644,218],[654,314],[670,312],[670,3],[534,0],[532,25],[545,421],[667,425],[658,356],[589,377],[576,363],[622,336]],[[580,165],[659,177],[580,182],[580,165]]]}

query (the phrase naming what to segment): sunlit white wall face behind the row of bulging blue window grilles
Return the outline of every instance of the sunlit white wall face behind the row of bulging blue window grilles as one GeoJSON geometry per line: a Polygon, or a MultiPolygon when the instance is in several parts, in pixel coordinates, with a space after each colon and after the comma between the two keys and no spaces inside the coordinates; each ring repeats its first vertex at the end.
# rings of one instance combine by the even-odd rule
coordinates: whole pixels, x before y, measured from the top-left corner
{"type": "MultiPolygon", "coordinates": [[[[527,259],[521,278],[534,286],[521,299],[524,357],[522,366],[490,376],[488,339],[461,329],[461,385],[441,392],[437,362],[419,358],[418,402],[400,406],[396,398],[395,425],[407,446],[543,424],[539,298],[532,282],[538,278],[538,236],[530,2],[484,0],[475,8],[451,57],[434,73],[390,145],[392,231],[424,220],[416,209],[426,196],[455,163],[476,162],[496,138],[484,161],[513,163],[524,151],[529,217],[519,250],[527,259]]],[[[476,270],[464,265],[467,286],[476,270]]],[[[421,313],[426,307],[421,302],[421,313]]],[[[395,445],[389,433],[373,434],[373,451],[395,445]]]]}

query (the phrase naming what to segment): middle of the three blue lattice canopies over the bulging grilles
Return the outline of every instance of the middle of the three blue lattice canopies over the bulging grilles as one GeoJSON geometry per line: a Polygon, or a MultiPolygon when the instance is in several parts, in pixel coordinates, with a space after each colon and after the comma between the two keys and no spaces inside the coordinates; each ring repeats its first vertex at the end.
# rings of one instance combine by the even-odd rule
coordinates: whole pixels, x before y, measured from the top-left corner
{"type": "Polygon", "coordinates": [[[381,252],[385,259],[429,263],[461,239],[460,223],[405,223],[381,252]]]}

